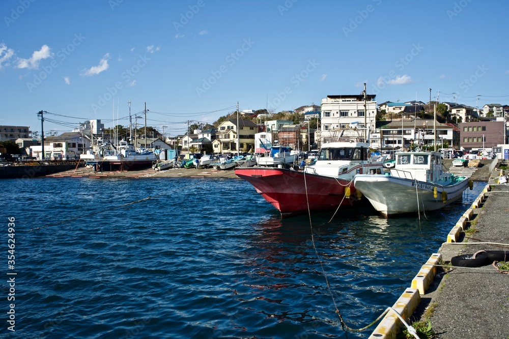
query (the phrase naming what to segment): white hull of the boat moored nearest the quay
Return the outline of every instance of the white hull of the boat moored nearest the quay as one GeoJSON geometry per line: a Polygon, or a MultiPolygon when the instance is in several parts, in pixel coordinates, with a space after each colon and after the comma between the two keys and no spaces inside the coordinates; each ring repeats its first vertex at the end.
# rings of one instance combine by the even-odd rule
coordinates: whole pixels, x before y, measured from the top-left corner
{"type": "Polygon", "coordinates": [[[377,211],[389,218],[397,214],[432,211],[447,206],[463,197],[463,191],[468,187],[468,179],[442,186],[391,175],[356,175],[354,186],[377,211]],[[436,198],[433,193],[435,187],[436,198]],[[447,192],[445,202],[442,201],[442,192],[447,192]]]}

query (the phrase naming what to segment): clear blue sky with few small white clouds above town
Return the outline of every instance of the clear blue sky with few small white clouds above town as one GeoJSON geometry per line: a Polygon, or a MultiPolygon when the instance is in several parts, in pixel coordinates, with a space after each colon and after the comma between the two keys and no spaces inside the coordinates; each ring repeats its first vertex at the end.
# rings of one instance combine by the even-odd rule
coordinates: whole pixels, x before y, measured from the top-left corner
{"type": "Polygon", "coordinates": [[[174,136],[237,101],[292,110],[364,82],[378,103],[428,102],[431,87],[432,100],[506,104],[508,10],[503,0],[4,0],[0,125],[40,132],[44,110],[76,117],[47,115],[65,126],[46,121],[45,132],[90,118],[110,127],[130,100],[133,116],[147,102],[148,125],[174,136]]]}

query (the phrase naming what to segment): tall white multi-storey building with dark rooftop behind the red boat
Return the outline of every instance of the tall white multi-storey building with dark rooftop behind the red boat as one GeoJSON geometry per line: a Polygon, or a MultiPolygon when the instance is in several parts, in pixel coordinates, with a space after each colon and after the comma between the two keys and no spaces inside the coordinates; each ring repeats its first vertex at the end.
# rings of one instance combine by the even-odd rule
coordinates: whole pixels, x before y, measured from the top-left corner
{"type": "Polygon", "coordinates": [[[374,132],[377,114],[375,97],[376,95],[366,95],[366,102],[364,94],[334,95],[322,99],[320,142],[334,139],[341,129],[351,125],[356,125],[359,129],[367,127],[368,133],[374,132]]]}

